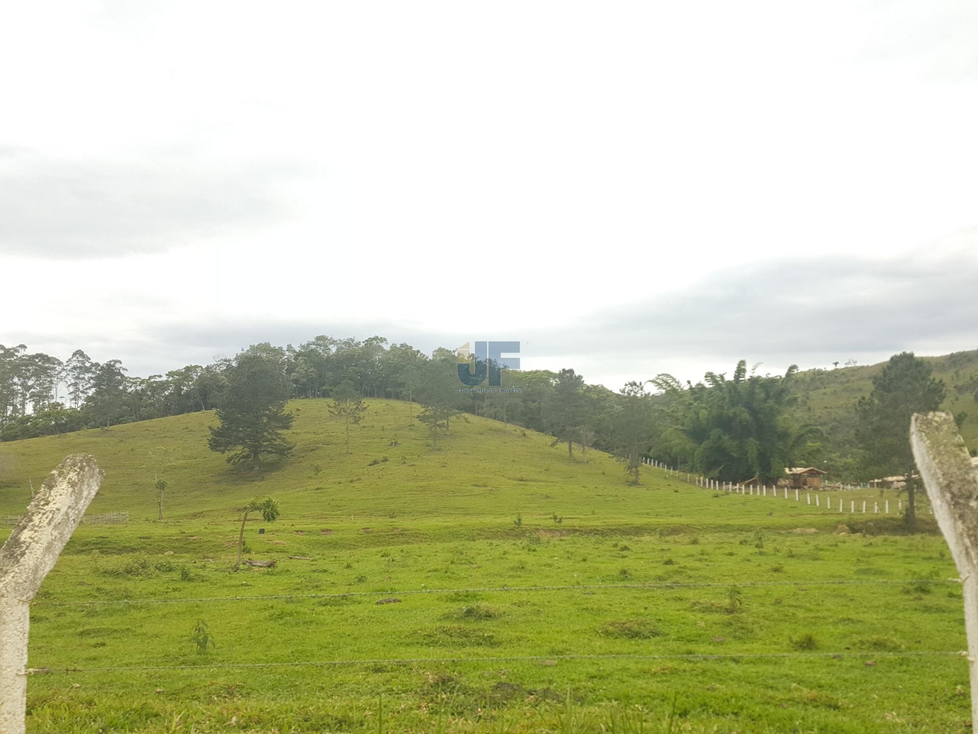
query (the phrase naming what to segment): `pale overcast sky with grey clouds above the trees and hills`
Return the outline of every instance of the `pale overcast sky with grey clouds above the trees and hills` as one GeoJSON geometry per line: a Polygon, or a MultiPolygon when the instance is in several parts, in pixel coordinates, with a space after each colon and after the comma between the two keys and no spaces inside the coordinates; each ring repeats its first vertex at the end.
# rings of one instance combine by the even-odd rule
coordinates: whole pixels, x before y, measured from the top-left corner
{"type": "Polygon", "coordinates": [[[970,1],[11,3],[0,90],[2,344],[978,347],[970,1]]]}

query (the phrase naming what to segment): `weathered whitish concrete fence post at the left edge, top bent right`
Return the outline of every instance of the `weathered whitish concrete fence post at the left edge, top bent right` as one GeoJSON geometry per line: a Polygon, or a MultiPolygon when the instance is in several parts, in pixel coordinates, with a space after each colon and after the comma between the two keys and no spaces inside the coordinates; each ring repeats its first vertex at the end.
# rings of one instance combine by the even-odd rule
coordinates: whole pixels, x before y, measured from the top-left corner
{"type": "Polygon", "coordinates": [[[30,600],[54,568],[103,477],[94,456],[68,456],[0,548],[0,734],[24,730],[30,600]]]}

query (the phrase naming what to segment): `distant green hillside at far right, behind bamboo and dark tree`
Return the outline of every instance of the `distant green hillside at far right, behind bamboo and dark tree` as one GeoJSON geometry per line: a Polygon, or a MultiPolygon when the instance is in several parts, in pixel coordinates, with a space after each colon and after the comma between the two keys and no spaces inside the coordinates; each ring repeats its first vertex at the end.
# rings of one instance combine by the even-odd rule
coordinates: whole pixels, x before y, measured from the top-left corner
{"type": "MultiPolygon", "coordinates": [[[[947,387],[944,409],[967,414],[961,433],[969,448],[978,449],[978,350],[924,359],[947,387]]],[[[847,455],[854,445],[856,402],[872,390],[870,380],[884,364],[798,374],[799,418],[821,426],[832,450],[840,455],[847,455]]]]}

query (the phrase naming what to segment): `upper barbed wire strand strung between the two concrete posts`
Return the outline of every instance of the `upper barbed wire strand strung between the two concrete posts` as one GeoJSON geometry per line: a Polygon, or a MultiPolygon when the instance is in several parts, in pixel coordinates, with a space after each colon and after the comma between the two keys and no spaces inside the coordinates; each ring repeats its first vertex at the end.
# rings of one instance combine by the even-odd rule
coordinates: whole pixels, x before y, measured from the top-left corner
{"type": "Polygon", "coordinates": [[[908,578],[908,579],[862,579],[844,578],[816,581],[690,581],[690,582],[670,582],[662,581],[656,583],[581,583],[564,584],[551,586],[475,586],[468,588],[431,588],[431,589],[386,589],[379,591],[336,591],[321,594],[259,594],[252,596],[205,596],[205,597],[184,597],[167,599],[165,597],[145,598],[145,599],[92,599],[65,602],[33,601],[31,606],[36,607],[84,607],[96,605],[136,605],[136,604],[193,604],[209,602],[246,602],[262,601],[273,599],[336,599],[342,597],[365,597],[365,596],[409,596],[412,594],[478,594],[478,593],[501,593],[501,592],[538,592],[538,591],[591,591],[596,589],[649,589],[649,590],[670,590],[682,588],[763,588],[777,586],[878,586],[878,585],[904,585],[904,584],[943,584],[960,583],[958,578],[908,578]]]}

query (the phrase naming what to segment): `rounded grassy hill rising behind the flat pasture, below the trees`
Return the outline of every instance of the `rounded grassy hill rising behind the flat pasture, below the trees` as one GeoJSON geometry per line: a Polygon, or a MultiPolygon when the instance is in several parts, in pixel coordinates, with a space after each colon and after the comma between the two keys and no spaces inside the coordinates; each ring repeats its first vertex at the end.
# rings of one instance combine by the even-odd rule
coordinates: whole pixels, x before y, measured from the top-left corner
{"type": "MultiPolygon", "coordinates": [[[[417,422],[419,406],[400,400],[368,400],[369,412],[352,429],[345,452],[342,423],[332,400],[293,400],[288,432],[295,443],[285,461],[270,461],[259,474],[229,466],[207,448],[213,412],[0,443],[0,516],[20,514],[30,501],[28,480],[39,486],[67,454],[94,454],[106,472],[90,512],[132,513],[156,519],[154,475],[168,482],[164,518],[226,517],[244,499],[274,494],[289,515],[398,517],[507,516],[589,502],[623,509],[619,493],[635,494],[621,465],[597,450],[588,463],[567,460],[553,438],[477,416],[459,416],[451,435],[430,436],[417,422]]],[[[649,472],[646,486],[657,482],[649,472]]],[[[509,520],[507,521],[509,523],[509,520]]]]}

